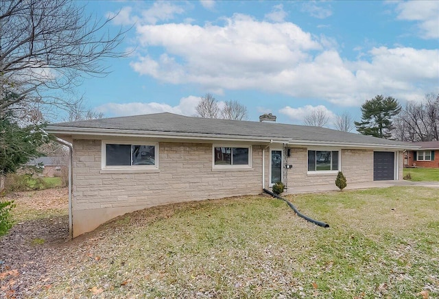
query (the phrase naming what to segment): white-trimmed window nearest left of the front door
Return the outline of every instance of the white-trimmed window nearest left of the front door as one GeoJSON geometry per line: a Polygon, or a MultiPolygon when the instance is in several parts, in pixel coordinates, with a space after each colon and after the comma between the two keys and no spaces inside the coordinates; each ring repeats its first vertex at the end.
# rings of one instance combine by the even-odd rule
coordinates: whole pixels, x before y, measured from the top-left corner
{"type": "Polygon", "coordinates": [[[251,167],[250,146],[213,146],[214,167],[251,167]]]}

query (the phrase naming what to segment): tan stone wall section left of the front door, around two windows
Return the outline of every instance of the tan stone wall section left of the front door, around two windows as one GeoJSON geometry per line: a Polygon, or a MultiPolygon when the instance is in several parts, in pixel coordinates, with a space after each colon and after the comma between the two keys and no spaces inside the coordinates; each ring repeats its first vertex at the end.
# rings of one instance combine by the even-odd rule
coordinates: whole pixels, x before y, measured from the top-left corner
{"type": "Polygon", "coordinates": [[[212,144],[159,143],[158,171],[101,174],[102,141],[73,140],[73,237],[160,204],[261,193],[262,147],[252,169],[212,169],[212,144]]]}

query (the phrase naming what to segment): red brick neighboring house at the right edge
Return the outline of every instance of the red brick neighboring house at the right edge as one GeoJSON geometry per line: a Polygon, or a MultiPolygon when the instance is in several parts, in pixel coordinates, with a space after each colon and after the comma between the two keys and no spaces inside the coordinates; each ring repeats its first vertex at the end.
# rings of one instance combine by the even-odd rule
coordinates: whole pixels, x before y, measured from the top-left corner
{"type": "Polygon", "coordinates": [[[416,151],[407,151],[404,166],[439,168],[439,141],[414,142],[420,147],[416,151]]]}

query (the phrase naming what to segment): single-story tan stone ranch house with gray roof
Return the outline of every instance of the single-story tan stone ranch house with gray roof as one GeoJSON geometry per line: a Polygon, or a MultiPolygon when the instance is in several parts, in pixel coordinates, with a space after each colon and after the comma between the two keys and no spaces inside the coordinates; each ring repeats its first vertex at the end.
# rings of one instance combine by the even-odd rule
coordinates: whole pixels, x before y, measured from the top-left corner
{"type": "Polygon", "coordinates": [[[171,113],[54,123],[71,144],[71,234],[139,209],[298,186],[402,180],[403,151],[372,136],[263,121],[171,113]]]}

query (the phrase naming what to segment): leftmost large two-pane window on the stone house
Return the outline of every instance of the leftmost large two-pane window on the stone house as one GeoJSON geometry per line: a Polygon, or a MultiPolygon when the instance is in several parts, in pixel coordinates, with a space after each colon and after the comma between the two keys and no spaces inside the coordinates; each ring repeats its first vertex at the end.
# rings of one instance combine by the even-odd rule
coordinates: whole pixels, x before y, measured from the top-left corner
{"type": "Polygon", "coordinates": [[[156,145],[105,144],[105,166],[156,166],[156,145]]]}

